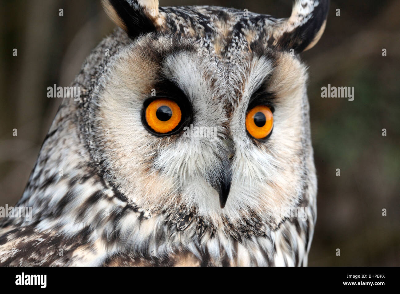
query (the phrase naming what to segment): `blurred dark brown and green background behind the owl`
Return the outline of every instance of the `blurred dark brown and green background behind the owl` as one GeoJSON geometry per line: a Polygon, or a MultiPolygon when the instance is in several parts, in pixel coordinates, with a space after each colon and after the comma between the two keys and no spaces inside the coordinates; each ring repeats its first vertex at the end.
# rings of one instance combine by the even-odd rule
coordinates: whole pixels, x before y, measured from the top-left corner
{"type": "MultiPolygon", "coordinates": [[[[247,8],[280,18],[290,16],[292,8],[291,0],[160,2],[247,8]]],[[[302,54],[310,66],[318,173],[310,266],[400,265],[399,14],[398,0],[331,0],[324,35],[302,54]],[[354,86],[354,101],[321,98],[320,89],[328,84],[354,86]],[[387,216],[382,216],[384,208],[387,216]]],[[[47,98],[46,88],[68,86],[90,50],[113,28],[100,0],[1,1],[0,206],[14,205],[21,197],[61,102],[47,98]],[[60,8],[64,16],[58,15],[60,8]],[[12,56],[14,48],[18,56],[12,56]],[[12,136],[14,128],[18,136],[12,136]]]]}

